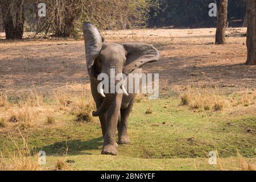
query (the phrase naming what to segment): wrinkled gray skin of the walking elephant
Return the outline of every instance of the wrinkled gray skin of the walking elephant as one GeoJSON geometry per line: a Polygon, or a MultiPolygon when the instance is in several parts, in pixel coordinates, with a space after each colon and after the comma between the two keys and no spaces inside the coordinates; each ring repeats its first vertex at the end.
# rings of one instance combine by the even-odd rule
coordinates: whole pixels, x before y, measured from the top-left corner
{"type": "MultiPolygon", "coordinates": [[[[135,92],[129,93],[129,90],[127,90],[129,96],[122,93],[105,93],[106,97],[102,97],[97,91],[97,86],[101,82],[97,80],[97,75],[106,73],[110,78],[111,68],[115,69],[116,75],[118,73],[125,73],[126,75],[141,73],[142,66],[159,60],[160,53],[148,44],[106,43],[97,28],[88,22],[83,24],[83,30],[86,64],[90,76],[92,96],[97,107],[97,111],[93,111],[93,116],[100,118],[104,137],[101,154],[117,155],[116,130],[118,130],[119,144],[130,142],[127,136],[127,119],[133,107],[135,92]]],[[[129,85],[129,82],[127,85],[129,85]]]]}

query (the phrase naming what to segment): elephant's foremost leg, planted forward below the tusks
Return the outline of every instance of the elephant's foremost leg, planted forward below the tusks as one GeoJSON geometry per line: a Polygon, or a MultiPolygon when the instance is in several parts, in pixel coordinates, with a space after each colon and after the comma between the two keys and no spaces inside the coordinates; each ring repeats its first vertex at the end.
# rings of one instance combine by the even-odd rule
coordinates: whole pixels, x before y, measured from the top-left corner
{"type": "Polygon", "coordinates": [[[122,94],[117,94],[115,100],[107,111],[106,132],[101,154],[117,155],[117,143],[115,142],[115,133],[117,130],[118,117],[122,102],[122,94]]]}

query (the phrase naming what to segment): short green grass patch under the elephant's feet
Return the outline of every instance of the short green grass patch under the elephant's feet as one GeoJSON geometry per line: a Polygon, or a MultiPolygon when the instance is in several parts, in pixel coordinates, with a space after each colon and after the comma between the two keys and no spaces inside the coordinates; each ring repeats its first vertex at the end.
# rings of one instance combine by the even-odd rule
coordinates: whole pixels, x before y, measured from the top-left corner
{"type": "MultiPolygon", "coordinates": [[[[225,111],[190,110],[181,106],[176,96],[143,99],[134,104],[130,114],[131,143],[119,145],[118,156],[100,155],[103,138],[98,119],[76,122],[70,113],[55,114],[54,118],[51,125],[33,127],[23,131],[24,135],[30,147],[46,151],[48,160],[67,152],[65,157],[75,160],[74,169],[217,169],[205,162],[209,151],[218,150],[220,158],[227,159],[237,156],[238,151],[245,158],[256,156],[254,109],[251,114],[230,115],[225,111]],[[146,114],[147,107],[153,112],[146,114]],[[64,125],[57,126],[58,121],[64,125]]],[[[0,148],[7,155],[7,148],[15,148],[12,139],[20,140],[20,144],[22,140],[18,132],[3,131],[0,148]]]]}

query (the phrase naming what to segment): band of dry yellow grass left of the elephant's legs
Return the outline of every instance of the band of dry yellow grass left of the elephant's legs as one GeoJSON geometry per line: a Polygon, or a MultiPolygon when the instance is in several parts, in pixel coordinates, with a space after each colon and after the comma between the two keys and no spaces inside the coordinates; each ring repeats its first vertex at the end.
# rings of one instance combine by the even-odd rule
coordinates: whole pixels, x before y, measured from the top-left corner
{"type": "Polygon", "coordinates": [[[0,127],[18,125],[22,129],[28,129],[31,126],[45,125],[46,123],[53,125],[56,123],[55,115],[61,112],[75,115],[75,120],[79,122],[94,121],[92,111],[96,110],[96,106],[90,93],[84,90],[73,93],[64,89],[57,90],[54,96],[51,107],[44,104],[43,96],[35,91],[27,94],[18,102],[8,104],[8,107],[5,106],[4,112],[0,115],[0,118],[3,118],[0,121],[0,127]],[[15,123],[15,125],[7,125],[7,122],[15,123]]]}

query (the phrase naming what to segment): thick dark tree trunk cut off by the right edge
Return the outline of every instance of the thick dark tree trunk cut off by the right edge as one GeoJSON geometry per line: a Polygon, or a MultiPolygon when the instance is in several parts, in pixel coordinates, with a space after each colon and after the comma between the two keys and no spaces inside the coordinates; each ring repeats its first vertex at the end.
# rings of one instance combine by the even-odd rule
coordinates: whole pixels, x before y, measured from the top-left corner
{"type": "Polygon", "coordinates": [[[248,65],[256,65],[256,1],[246,0],[247,14],[247,61],[248,65]]]}

